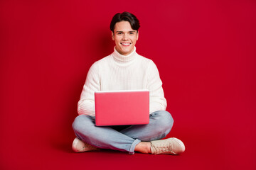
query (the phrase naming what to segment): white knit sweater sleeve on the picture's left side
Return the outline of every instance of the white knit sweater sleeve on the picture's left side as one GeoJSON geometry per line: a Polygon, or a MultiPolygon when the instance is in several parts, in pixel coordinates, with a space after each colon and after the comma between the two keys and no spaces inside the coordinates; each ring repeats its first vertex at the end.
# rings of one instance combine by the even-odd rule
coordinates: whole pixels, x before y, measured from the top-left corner
{"type": "Polygon", "coordinates": [[[80,100],[78,101],[78,114],[82,115],[92,115],[95,116],[95,91],[100,91],[100,77],[97,68],[97,62],[92,64],[87,77],[85,84],[82,88],[82,94],[80,100]]]}

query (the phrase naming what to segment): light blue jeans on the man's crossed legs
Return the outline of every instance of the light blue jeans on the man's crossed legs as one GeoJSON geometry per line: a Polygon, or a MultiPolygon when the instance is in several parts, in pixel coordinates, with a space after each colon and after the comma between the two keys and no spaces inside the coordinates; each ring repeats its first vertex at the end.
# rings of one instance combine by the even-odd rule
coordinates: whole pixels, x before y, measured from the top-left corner
{"type": "Polygon", "coordinates": [[[149,142],[166,137],[174,120],[167,111],[156,111],[149,115],[147,125],[96,126],[95,117],[78,115],[73,130],[78,139],[102,149],[113,149],[134,154],[139,142],[149,142]]]}

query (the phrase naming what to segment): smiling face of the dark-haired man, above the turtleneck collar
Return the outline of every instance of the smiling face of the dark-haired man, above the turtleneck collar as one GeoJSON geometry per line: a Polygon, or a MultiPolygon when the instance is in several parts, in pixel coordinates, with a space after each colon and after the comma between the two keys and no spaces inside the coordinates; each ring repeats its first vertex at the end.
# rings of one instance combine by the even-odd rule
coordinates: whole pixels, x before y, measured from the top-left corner
{"type": "Polygon", "coordinates": [[[115,24],[112,40],[116,45],[116,50],[121,55],[129,55],[139,38],[139,32],[133,30],[128,21],[121,21],[115,24]]]}

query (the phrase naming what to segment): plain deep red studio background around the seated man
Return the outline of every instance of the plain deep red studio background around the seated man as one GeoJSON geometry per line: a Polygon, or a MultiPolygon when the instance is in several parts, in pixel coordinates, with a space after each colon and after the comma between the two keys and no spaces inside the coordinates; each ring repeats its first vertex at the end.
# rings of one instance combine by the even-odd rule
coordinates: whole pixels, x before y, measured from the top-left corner
{"type": "Polygon", "coordinates": [[[252,0],[1,1],[0,169],[256,169],[255,30],[252,0]],[[71,150],[87,71],[123,11],[141,21],[181,156],[71,150]]]}

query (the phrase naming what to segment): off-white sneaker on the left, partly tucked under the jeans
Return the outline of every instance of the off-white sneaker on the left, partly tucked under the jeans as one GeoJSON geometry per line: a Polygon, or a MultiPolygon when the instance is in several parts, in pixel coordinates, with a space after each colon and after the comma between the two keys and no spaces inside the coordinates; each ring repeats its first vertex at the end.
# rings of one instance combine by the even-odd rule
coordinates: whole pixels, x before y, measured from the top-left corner
{"type": "Polygon", "coordinates": [[[78,140],[78,137],[75,137],[75,140],[73,141],[72,149],[75,152],[86,152],[86,151],[100,150],[97,147],[93,147],[92,145],[82,142],[82,140],[78,140]]]}

